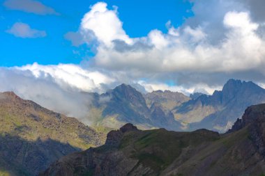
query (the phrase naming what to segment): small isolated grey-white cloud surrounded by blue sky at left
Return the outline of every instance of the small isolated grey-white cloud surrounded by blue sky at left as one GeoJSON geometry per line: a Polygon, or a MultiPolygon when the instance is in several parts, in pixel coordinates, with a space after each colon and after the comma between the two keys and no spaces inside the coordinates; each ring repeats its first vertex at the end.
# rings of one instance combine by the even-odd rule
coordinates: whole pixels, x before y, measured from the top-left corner
{"type": "Polygon", "coordinates": [[[16,22],[10,29],[6,30],[6,32],[18,38],[43,38],[47,35],[45,31],[31,29],[29,24],[22,22],[16,22]]]}

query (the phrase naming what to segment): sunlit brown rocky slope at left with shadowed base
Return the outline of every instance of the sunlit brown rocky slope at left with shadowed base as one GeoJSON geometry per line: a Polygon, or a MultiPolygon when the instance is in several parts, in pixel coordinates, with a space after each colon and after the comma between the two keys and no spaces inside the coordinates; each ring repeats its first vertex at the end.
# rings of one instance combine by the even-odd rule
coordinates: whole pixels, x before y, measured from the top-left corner
{"type": "Polygon", "coordinates": [[[0,123],[0,175],[37,175],[60,157],[104,141],[75,118],[13,92],[0,93],[0,123]]]}

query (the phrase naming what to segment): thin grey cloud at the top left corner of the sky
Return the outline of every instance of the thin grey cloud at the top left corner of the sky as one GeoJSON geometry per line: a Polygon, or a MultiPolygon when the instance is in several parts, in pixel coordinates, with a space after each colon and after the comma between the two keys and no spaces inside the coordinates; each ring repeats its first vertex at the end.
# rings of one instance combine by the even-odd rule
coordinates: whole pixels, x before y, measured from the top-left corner
{"type": "Polygon", "coordinates": [[[59,15],[53,8],[34,0],[6,0],[3,2],[3,6],[10,10],[21,10],[38,15],[59,15]]]}

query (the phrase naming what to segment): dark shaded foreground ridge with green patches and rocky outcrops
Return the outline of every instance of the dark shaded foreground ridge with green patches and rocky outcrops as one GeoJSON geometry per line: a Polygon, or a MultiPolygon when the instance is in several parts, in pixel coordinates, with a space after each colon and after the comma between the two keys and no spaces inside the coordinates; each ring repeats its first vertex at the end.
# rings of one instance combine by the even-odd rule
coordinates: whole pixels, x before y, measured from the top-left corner
{"type": "Polygon", "coordinates": [[[54,162],[54,175],[263,175],[265,104],[250,106],[227,134],[153,129],[110,131],[105,145],[54,162]]]}

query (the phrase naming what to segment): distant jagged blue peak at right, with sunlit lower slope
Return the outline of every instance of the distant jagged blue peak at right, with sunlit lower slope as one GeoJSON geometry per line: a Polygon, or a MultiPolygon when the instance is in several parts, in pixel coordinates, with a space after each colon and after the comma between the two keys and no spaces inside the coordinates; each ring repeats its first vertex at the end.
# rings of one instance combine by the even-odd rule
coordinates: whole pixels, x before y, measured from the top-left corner
{"type": "Polygon", "coordinates": [[[265,102],[265,90],[252,81],[230,79],[221,91],[201,95],[177,106],[172,113],[183,129],[213,129],[225,132],[252,104],[265,102]]]}

